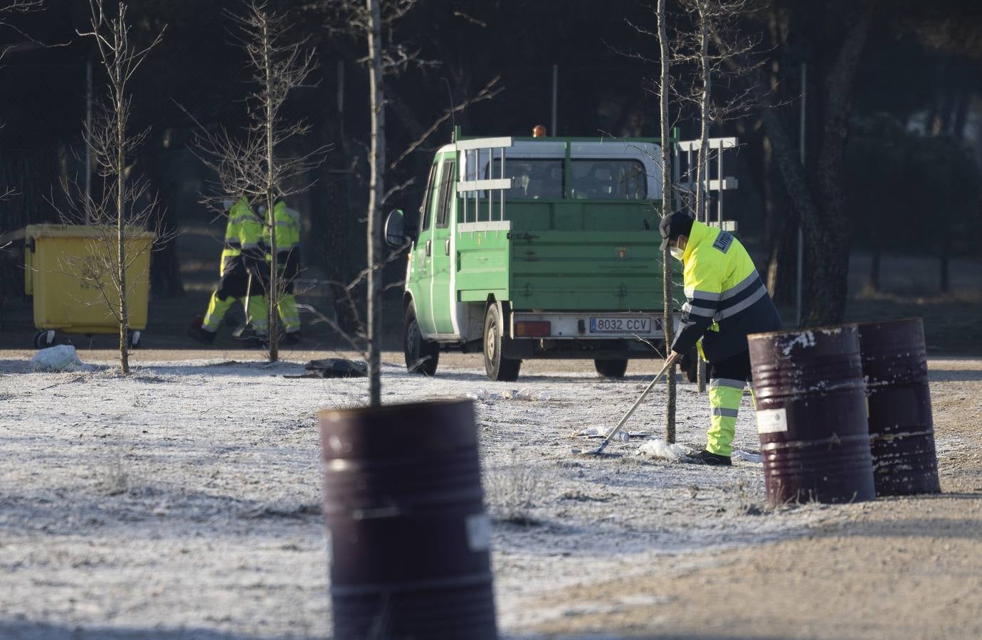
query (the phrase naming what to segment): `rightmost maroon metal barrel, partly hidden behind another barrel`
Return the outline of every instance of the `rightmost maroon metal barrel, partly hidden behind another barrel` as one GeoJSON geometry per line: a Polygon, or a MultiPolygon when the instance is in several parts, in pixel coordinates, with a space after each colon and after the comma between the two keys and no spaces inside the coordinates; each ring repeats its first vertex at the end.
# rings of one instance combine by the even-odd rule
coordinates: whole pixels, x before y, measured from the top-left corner
{"type": "Polygon", "coordinates": [[[877,496],[941,492],[920,318],[859,325],[877,496]]]}

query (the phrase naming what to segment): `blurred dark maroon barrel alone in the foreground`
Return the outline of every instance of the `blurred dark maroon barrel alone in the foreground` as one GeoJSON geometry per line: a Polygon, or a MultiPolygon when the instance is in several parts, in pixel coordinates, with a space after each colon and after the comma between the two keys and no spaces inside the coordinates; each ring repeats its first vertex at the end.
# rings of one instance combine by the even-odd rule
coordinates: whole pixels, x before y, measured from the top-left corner
{"type": "Polygon", "coordinates": [[[318,417],[334,637],[497,638],[471,401],[318,417]]]}

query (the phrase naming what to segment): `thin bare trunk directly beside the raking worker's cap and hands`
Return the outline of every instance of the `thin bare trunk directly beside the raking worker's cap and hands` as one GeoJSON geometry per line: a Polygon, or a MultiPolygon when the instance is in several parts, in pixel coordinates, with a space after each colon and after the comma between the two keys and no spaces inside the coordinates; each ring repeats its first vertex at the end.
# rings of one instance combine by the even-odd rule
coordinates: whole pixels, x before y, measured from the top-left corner
{"type": "MultiPolygon", "coordinates": [[[[665,2],[658,0],[658,44],[662,56],[662,79],[658,94],[661,120],[662,146],[662,215],[672,210],[672,139],[669,137],[669,38],[665,26],[665,2]]],[[[665,331],[665,355],[669,355],[675,339],[675,300],[672,297],[672,253],[662,252],[662,328],[665,331]]],[[[665,403],[665,441],[669,444],[676,439],[676,368],[669,369],[666,378],[668,400],[665,403]]]]}

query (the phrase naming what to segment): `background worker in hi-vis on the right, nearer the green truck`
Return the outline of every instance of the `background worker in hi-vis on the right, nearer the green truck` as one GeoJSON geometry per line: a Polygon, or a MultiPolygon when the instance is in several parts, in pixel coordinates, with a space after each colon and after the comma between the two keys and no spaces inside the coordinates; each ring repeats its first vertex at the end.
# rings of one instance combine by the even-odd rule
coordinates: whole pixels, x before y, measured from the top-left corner
{"type": "MultiPolygon", "coordinates": [[[[259,212],[265,215],[265,207],[260,206],[259,212]]],[[[300,311],[294,286],[300,275],[300,212],[279,200],[273,205],[273,224],[276,226],[276,265],[281,287],[276,308],[283,319],[284,342],[297,344],[300,342],[300,311]]],[[[268,226],[263,226],[262,244],[267,251],[268,273],[273,257],[268,253],[271,245],[268,226]]]]}

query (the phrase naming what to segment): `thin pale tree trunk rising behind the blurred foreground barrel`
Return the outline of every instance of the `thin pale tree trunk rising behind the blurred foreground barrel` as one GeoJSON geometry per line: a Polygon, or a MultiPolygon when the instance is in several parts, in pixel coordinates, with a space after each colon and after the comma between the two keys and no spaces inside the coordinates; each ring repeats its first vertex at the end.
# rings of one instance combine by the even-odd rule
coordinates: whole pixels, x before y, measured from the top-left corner
{"type": "Polygon", "coordinates": [[[368,404],[382,403],[379,339],[382,329],[382,217],[378,208],[385,192],[385,89],[382,85],[382,16],[379,0],[365,0],[368,28],[368,84],[371,92],[371,178],[368,185],[368,404]]]}

